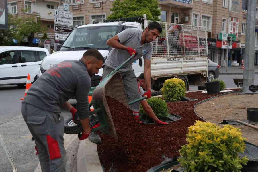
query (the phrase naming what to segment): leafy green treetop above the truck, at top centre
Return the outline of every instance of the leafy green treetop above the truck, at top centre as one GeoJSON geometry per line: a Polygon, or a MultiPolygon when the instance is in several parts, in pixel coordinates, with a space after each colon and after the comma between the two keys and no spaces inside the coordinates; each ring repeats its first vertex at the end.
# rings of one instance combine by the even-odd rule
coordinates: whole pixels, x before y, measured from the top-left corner
{"type": "Polygon", "coordinates": [[[113,11],[107,18],[118,19],[147,15],[148,20],[159,21],[160,9],[157,0],[115,0],[112,4],[113,11]]]}

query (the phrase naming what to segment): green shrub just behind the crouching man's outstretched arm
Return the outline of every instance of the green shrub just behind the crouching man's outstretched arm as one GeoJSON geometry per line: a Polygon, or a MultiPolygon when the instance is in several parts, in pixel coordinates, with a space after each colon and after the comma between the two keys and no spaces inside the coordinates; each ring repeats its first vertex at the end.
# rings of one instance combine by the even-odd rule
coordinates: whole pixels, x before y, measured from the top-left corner
{"type": "MultiPolygon", "coordinates": [[[[154,114],[158,118],[164,118],[169,115],[167,103],[164,100],[162,100],[158,97],[151,97],[150,99],[147,99],[147,102],[150,105],[150,107],[152,108],[154,114]]],[[[145,113],[142,106],[140,106],[140,114],[139,115],[141,118],[145,118],[145,119],[148,118],[148,116],[145,113]]]]}

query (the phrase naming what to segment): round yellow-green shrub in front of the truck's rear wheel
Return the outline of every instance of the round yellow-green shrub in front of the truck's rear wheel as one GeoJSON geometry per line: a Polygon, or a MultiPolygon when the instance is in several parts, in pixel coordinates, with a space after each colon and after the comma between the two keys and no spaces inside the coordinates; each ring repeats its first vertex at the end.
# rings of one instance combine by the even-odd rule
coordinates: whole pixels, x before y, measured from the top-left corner
{"type": "Polygon", "coordinates": [[[182,79],[167,79],[161,88],[162,98],[166,102],[180,101],[185,97],[185,82],[182,79]]]}

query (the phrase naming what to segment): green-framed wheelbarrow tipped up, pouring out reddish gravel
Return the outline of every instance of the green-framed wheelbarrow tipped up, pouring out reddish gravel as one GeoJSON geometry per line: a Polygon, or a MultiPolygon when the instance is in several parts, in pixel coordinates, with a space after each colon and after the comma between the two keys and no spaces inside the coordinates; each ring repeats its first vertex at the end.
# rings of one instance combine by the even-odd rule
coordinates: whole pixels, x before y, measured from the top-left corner
{"type": "MultiPolygon", "coordinates": [[[[129,108],[129,105],[146,99],[146,97],[144,96],[134,101],[128,102],[122,77],[118,70],[121,69],[132,58],[134,58],[134,54],[130,56],[130,58],[128,58],[120,66],[114,69],[114,71],[112,71],[109,75],[107,75],[107,77],[105,77],[102,81],[100,81],[98,86],[91,87],[89,91],[89,95],[92,95],[92,100],[89,103],[89,107],[93,105],[94,110],[91,111],[89,115],[96,114],[98,121],[100,123],[100,126],[91,129],[91,132],[104,129],[103,131],[106,134],[110,134],[111,136],[116,138],[116,140],[119,141],[119,138],[116,134],[114,122],[112,120],[112,115],[110,113],[109,106],[107,104],[106,96],[116,99],[117,101],[126,105],[126,107],[128,108],[129,108]]],[[[81,124],[77,124],[77,126],[78,125],[81,125],[81,124]]],[[[77,132],[82,132],[82,131],[83,131],[82,127],[80,130],[77,130],[77,132]]],[[[71,134],[71,133],[67,133],[67,134],[71,134]]]]}

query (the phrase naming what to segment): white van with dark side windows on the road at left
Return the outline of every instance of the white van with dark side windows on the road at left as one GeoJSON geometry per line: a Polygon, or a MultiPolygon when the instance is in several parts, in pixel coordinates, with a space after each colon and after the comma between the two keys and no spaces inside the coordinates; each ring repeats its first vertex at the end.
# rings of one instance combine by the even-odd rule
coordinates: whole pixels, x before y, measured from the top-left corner
{"type": "Polygon", "coordinates": [[[40,76],[40,64],[49,52],[46,48],[1,46],[0,85],[25,85],[27,75],[31,82],[40,76]]]}

